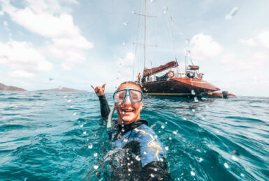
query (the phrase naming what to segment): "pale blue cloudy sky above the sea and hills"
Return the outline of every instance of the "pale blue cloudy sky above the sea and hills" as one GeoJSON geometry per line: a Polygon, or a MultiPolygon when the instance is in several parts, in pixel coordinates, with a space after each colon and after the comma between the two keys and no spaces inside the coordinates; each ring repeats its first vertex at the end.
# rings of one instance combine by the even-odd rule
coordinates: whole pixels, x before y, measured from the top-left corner
{"type": "MultiPolygon", "coordinates": [[[[143,70],[145,0],[0,0],[0,83],[92,91],[143,70]],[[135,61],[134,61],[135,60],[135,61]]],[[[269,1],[147,0],[146,67],[185,56],[235,95],[269,90],[269,1]]],[[[136,77],[136,75],[135,75],[136,77]]]]}

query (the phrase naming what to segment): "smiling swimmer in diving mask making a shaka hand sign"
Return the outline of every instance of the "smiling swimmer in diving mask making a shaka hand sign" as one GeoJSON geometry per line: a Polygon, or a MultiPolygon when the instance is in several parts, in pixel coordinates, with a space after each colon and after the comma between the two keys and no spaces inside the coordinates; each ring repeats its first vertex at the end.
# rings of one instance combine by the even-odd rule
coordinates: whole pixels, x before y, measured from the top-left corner
{"type": "MultiPolygon", "coordinates": [[[[99,97],[101,116],[108,121],[110,108],[104,94],[106,84],[92,86],[99,97]]],[[[140,118],[143,109],[143,92],[133,81],[119,85],[113,94],[117,119],[113,119],[108,136],[114,148],[126,149],[129,153],[126,161],[128,180],[171,180],[166,166],[165,149],[157,134],[148,127],[147,120],[140,118]],[[130,164],[131,163],[131,164],[130,164]]],[[[121,162],[121,165],[124,162],[121,162]]],[[[115,168],[115,167],[114,167],[115,168]]],[[[115,168],[117,170],[117,168],[115,168]]],[[[117,172],[115,172],[117,173],[117,172]]]]}

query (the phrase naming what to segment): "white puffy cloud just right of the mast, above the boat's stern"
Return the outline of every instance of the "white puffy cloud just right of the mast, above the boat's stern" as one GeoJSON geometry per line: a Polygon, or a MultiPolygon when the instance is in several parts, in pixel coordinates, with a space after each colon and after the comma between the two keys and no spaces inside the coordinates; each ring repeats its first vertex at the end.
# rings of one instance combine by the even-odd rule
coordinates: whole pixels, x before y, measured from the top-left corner
{"type": "Polygon", "coordinates": [[[204,35],[203,33],[191,38],[190,46],[192,56],[199,60],[210,56],[217,56],[223,50],[221,45],[215,42],[211,36],[204,35]]]}

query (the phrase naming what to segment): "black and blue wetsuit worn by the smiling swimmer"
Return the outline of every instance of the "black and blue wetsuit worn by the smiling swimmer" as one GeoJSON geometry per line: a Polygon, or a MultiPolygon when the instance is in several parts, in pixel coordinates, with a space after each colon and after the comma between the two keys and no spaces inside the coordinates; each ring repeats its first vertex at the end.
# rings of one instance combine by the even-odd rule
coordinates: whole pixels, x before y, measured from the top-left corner
{"type": "MultiPolygon", "coordinates": [[[[99,96],[101,116],[108,120],[110,108],[105,95],[99,96]]],[[[157,134],[148,127],[146,120],[136,120],[129,125],[119,125],[112,120],[108,136],[113,148],[128,150],[129,157],[122,157],[120,171],[130,175],[127,180],[170,180],[164,158],[165,149],[157,134]],[[131,163],[131,164],[130,164],[131,163]]],[[[119,171],[118,169],[118,171],[119,171]]],[[[117,173],[117,167],[115,167],[117,173]]]]}

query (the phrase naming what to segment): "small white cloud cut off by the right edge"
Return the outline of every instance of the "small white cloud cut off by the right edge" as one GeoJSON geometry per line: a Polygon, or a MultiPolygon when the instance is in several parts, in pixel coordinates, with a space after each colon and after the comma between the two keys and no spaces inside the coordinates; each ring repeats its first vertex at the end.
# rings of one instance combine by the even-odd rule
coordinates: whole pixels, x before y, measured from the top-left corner
{"type": "Polygon", "coordinates": [[[269,30],[261,31],[255,38],[249,38],[241,42],[249,47],[269,49],[269,30]]]}

